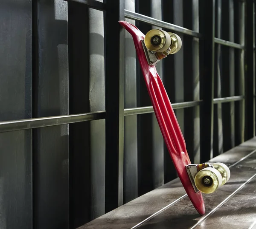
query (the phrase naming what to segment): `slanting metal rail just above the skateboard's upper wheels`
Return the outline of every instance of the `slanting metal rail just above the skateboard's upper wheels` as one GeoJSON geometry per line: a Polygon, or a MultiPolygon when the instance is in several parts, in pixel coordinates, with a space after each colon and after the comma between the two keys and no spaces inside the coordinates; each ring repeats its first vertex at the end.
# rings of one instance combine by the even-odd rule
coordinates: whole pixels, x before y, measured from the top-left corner
{"type": "Polygon", "coordinates": [[[193,31],[193,30],[190,30],[190,29],[187,29],[187,28],[183,28],[181,26],[174,25],[174,24],[171,24],[171,23],[163,22],[161,20],[157,20],[157,19],[154,19],[152,17],[148,17],[148,16],[145,16],[143,14],[138,14],[138,13],[126,10],[126,9],[125,9],[125,17],[129,18],[129,19],[132,19],[132,20],[142,21],[142,22],[147,23],[149,25],[159,26],[161,28],[168,28],[170,30],[180,32],[180,33],[183,33],[183,34],[187,34],[187,35],[190,35],[190,36],[193,36],[193,37],[201,37],[201,34],[196,32],[196,31],[193,31]]]}

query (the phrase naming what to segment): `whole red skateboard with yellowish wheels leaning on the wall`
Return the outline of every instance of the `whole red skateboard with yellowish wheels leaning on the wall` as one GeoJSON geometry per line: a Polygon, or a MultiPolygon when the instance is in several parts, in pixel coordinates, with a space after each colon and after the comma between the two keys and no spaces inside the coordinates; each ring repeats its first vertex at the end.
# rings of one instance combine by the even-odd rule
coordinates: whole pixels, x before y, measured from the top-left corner
{"type": "Polygon", "coordinates": [[[157,74],[157,62],[169,54],[177,53],[181,48],[181,39],[177,34],[158,29],[152,29],[144,35],[131,23],[119,23],[133,37],[154,113],[180,181],[195,209],[204,215],[201,192],[212,193],[226,183],[230,178],[230,170],[222,163],[191,164],[171,102],[157,74]]]}

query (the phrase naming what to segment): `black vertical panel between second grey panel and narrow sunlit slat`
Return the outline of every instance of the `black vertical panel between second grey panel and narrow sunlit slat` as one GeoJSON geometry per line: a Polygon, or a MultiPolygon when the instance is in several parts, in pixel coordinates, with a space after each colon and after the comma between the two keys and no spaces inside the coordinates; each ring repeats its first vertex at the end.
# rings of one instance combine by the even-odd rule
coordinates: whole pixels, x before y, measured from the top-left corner
{"type": "MultiPolygon", "coordinates": [[[[68,3],[70,114],[90,110],[88,20],[87,6],[68,3]]],[[[104,114],[104,119],[105,112],[101,114],[104,114]]],[[[93,219],[90,208],[90,122],[70,124],[69,165],[70,229],[73,229],[93,219]]]]}

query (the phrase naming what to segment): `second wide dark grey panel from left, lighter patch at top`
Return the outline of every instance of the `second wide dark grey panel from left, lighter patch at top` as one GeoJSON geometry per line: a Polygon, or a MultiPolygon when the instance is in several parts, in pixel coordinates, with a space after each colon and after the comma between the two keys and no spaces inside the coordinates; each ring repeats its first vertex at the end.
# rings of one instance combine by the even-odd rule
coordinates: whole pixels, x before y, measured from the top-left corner
{"type": "MultiPolygon", "coordinates": [[[[35,117],[68,114],[67,3],[38,0],[35,117]]],[[[36,6],[35,6],[36,7],[36,6]]],[[[68,125],[33,131],[34,228],[69,228],[68,125]]]]}

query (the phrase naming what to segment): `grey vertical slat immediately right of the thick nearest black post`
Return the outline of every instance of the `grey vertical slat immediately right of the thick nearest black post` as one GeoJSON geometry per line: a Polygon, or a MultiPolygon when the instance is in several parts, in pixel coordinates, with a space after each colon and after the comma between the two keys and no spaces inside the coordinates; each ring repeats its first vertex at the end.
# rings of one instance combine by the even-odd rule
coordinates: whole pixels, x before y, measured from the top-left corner
{"type": "MultiPolygon", "coordinates": [[[[134,0],[125,0],[125,9],[135,11],[134,0]]],[[[135,20],[126,19],[135,25],[135,20]]],[[[124,107],[137,107],[136,51],[131,34],[125,31],[124,107]]],[[[137,115],[124,119],[124,203],[138,196],[137,115]]]]}

